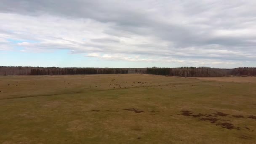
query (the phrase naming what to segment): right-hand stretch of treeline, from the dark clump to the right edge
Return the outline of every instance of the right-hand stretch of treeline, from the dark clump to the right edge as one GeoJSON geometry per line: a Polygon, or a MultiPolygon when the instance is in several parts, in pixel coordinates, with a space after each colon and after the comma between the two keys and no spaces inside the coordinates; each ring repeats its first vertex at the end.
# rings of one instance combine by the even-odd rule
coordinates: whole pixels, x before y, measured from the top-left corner
{"type": "Polygon", "coordinates": [[[256,68],[239,67],[235,69],[216,69],[210,67],[147,68],[147,74],[170,75],[179,77],[229,77],[255,76],[256,68]]]}

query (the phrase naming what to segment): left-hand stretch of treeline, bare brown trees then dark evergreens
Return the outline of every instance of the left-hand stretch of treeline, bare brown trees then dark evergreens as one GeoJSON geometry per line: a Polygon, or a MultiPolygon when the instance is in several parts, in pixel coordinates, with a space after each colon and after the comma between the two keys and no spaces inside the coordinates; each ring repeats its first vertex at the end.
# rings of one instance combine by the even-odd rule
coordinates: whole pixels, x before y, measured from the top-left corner
{"type": "Polygon", "coordinates": [[[0,67],[0,75],[127,74],[123,68],[0,67]]]}

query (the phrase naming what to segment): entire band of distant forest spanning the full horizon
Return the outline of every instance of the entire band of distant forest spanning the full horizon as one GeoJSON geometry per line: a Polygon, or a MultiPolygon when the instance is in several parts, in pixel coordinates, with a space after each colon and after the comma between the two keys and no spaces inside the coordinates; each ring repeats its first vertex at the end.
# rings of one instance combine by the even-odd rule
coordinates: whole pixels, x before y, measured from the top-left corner
{"type": "Polygon", "coordinates": [[[210,67],[179,68],[59,68],[59,67],[1,67],[0,75],[92,75],[92,74],[150,74],[179,77],[256,76],[255,67],[217,69],[210,67]]]}

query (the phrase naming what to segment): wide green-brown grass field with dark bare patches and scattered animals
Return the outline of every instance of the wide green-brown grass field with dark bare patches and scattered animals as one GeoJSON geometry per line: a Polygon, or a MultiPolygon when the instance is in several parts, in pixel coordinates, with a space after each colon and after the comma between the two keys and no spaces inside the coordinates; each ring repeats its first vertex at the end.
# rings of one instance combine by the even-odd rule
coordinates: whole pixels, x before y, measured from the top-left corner
{"type": "Polygon", "coordinates": [[[1,76],[0,143],[254,143],[256,77],[216,79],[1,76]]]}

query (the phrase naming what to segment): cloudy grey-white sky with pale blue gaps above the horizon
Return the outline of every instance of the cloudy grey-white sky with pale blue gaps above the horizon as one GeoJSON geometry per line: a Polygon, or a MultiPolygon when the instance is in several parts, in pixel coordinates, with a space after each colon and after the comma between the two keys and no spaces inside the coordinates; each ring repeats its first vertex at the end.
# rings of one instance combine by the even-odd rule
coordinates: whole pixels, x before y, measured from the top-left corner
{"type": "Polygon", "coordinates": [[[256,67],[256,0],[0,0],[0,66],[256,67]]]}

